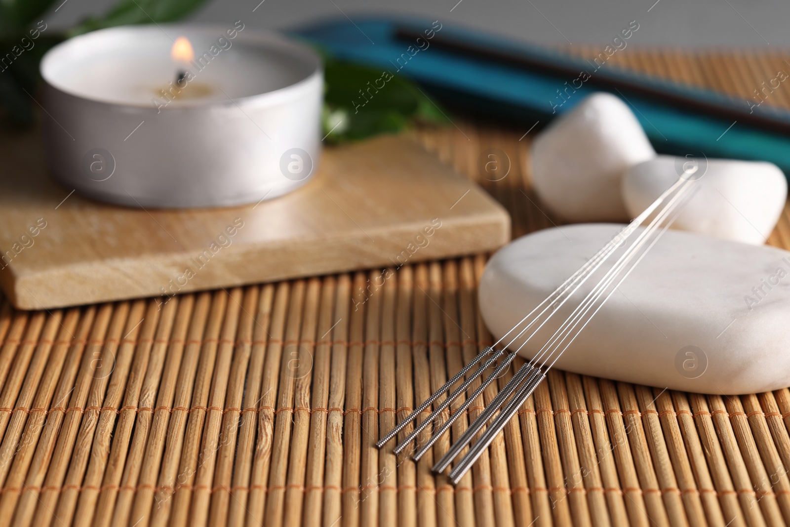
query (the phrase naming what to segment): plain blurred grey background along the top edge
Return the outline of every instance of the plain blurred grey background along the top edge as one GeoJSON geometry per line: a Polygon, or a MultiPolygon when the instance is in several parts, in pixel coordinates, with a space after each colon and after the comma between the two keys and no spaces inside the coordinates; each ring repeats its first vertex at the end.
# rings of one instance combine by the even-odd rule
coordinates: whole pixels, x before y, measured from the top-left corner
{"type": "MultiPolygon", "coordinates": [[[[103,13],[115,2],[66,0],[45,20],[66,27],[88,14],[103,13]]],[[[211,0],[191,18],[213,23],[242,20],[251,28],[279,29],[376,13],[430,17],[545,45],[609,41],[636,20],[640,28],[629,45],[790,47],[790,2],[777,0],[211,0]]]]}

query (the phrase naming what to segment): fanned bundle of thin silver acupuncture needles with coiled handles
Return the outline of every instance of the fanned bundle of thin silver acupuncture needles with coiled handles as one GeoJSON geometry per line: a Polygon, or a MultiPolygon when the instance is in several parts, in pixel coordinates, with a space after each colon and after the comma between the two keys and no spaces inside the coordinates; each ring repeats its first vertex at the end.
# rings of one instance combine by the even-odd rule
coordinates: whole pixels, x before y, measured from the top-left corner
{"type": "MultiPolygon", "coordinates": [[[[516,357],[517,353],[525,344],[535,336],[554,315],[560,307],[562,307],[574,292],[581,288],[582,284],[591,277],[593,274],[599,276],[603,273],[603,277],[594,284],[592,290],[585,295],[581,302],[577,303],[574,311],[568,316],[559,328],[551,335],[548,341],[536,353],[536,355],[524,364],[514,375],[510,381],[506,383],[504,388],[496,395],[480,416],[469,425],[461,437],[455,439],[455,442],[447,450],[446,454],[434,465],[434,472],[444,472],[450,464],[466,449],[466,446],[475,439],[483,427],[485,431],[477,437],[476,441],[472,443],[471,448],[461,457],[453,469],[450,471],[450,481],[457,484],[465,475],[468,469],[477,461],[478,457],[483,454],[483,451],[494,441],[499,431],[505,427],[506,423],[516,414],[518,408],[525,403],[527,398],[532,394],[536,387],[546,378],[547,372],[554,366],[562,352],[570,346],[574,339],[581,333],[581,330],[587,326],[592,320],[592,317],[603,307],[604,303],[608,300],[609,296],[615,291],[619,284],[628,277],[634,267],[641,262],[645,254],[656,244],[661,235],[666,232],[675,218],[682,211],[683,206],[688,202],[691,196],[695,193],[690,191],[694,185],[694,178],[691,177],[696,172],[696,166],[687,168],[683,172],[677,182],[670,186],[661,194],[656,201],[653,201],[643,213],[634,218],[634,220],[626,225],[611,241],[609,241],[603,248],[601,248],[595,255],[592,256],[584,265],[581,266],[573,275],[565,280],[558,288],[555,289],[551,295],[548,295],[543,302],[541,302],[535,309],[529,312],[521,322],[513,326],[510,331],[503,335],[498,341],[491,346],[483,349],[471,362],[465,365],[458,371],[453,378],[445,383],[444,386],[439,388],[427,401],[419,405],[413,412],[411,412],[401,423],[398,423],[393,430],[389,431],[382,439],[376,443],[378,448],[386,445],[391,439],[398,435],[401,431],[425,412],[431,405],[437,403],[442,395],[448,393],[453,389],[453,386],[466,377],[460,386],[457,386],[452,392],[441,402],[438,402],[434,407],[433,412],[426,419],[419,422],[414,430],[408,433],[404,439],[395,446],[395,454],[400,454],[407,446],[417,439],[420,432],[422,432],[431,423],[436,423],[434,434],[427,442],[416,445],[416,452],[413,454],[415,460],[431,449],[443,434],[450,430],[453,422],[461,415],[464,415],[465,410],[472,401],[483,393],[496,378],[504,374],[510,363],[516,357]],[[649,221],[648,221],[649,220],[649,221]],[[642,224],[648,222],[644,228],[642,224]],[[607,268],[604,264],[608,261],[612,254],[619,253],[614,264],[607,268]],[[528,333],[529,332],[529,333],[528,333]],[[525,335],[524,341],[515,350],[510,350],[510,346],[522,335],[525,335]],[[506,344],[505,344],[506,342],[506,344]],[[501,348],[497,349],[502,344],[501,348]],[[472,368],[476,367],[475,371],[472,368]],[[475,382],[476,378],[480,378],[489,371],[489,373],[480,386],[477,386],[465,401],[459,405],[455,411],[450,415],[446,421],[439,422],[440,418],[444,415],[443,412],[450,407],[461,394],[465,394],[468,389],[475,382]]],[[[571,306],[573,304],[570,304],[571,306]]]]}

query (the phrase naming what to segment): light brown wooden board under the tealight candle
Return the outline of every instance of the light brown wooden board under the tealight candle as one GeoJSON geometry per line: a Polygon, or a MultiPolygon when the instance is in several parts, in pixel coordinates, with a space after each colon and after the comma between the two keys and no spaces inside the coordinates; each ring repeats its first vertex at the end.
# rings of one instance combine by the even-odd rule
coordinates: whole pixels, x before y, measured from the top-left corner
{"type": "Polygon", "coordinates": [[[408,137],[325,149],[314,180],[283,198],[187,210],[70,195],[47,174],[40,144],[37,131],[6,134],[0,151],[0,284],[21,309],[166,300],[473,254],[510,239],[505,209],[408,137]]]}

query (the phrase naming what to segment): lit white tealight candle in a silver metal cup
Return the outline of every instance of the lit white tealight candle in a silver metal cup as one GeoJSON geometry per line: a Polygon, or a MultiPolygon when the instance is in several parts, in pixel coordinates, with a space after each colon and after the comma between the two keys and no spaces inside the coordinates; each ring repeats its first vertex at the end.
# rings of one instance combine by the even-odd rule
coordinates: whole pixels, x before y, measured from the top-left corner
{"type": "Polygon", "coordinates": [[[239,205],[294,190],[318,162],[320,59],[241,22],[103,29],[52,48],[41,73],[48,164],[92,198],[239,205]]]}

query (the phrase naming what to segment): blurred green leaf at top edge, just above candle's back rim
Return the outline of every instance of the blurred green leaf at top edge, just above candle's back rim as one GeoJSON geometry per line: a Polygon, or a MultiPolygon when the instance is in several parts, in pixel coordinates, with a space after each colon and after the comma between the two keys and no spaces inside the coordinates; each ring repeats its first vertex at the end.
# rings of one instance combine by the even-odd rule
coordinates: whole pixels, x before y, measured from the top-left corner
{"type": "Polygon", "coordinates": [[[177,21],[198,9],[204,2],[205,0],[121,0],[103,17],[90,17],[73,28],[69,34],[80,35],[117,25],[177,21]]]}

